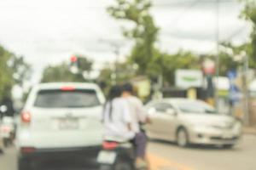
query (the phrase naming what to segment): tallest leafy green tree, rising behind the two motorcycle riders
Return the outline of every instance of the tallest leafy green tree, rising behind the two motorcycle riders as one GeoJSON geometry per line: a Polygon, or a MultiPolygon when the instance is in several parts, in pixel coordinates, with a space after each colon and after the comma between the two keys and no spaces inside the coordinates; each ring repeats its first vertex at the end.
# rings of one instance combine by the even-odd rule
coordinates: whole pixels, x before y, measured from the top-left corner
{"type": "Polygon", "coordinates": [[[108,8],[117,20],[130,21],[131,30],[124,29],[125,37],[134,42],[129,56],[131,63],[136,63],[140,74],[151,74],[150,65],[158,56],[154,43],[157,40],[159,28],[154,24],[154,19],[149,13],[152,6],[148,0],[115,0],[116,4],[108,8]]]}

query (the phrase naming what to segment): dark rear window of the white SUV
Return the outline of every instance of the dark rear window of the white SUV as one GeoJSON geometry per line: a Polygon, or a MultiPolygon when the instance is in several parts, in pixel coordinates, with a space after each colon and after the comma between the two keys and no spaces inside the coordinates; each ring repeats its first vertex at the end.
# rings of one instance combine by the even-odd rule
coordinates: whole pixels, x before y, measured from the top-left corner
{"type": "Polygon", "coordinates": [[[40,108],[84,108],[101,105],[95,90],[41,90],[34,106],[40,108]]]}

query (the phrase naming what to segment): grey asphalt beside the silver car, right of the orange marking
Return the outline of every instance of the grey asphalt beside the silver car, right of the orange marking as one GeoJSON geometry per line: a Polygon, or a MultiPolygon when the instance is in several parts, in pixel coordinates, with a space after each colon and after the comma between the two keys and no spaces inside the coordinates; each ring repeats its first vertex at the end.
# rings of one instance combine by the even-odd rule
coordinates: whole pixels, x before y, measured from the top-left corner
{"type": "MultiPolygon", "coordinates": [[[[244,135],[232,150],[216,147],[193,146],[178,148],[175,144],[154,141],[150,143],[155,153],[183,170],[256,170],[256,135],[244,135]]],[[[173,168],[174,169],[174,168],[173,168]]]]}

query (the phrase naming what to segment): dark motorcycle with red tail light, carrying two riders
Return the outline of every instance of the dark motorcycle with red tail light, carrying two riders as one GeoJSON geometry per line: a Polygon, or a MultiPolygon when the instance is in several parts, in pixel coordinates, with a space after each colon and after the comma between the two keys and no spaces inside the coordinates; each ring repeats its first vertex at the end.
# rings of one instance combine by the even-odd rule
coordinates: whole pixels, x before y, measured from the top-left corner
{"type": "Polygon", "coordinates": [[[130,142],[104,141],[97,162],[100,170],[137,170],[135,149],[130,142]]]}

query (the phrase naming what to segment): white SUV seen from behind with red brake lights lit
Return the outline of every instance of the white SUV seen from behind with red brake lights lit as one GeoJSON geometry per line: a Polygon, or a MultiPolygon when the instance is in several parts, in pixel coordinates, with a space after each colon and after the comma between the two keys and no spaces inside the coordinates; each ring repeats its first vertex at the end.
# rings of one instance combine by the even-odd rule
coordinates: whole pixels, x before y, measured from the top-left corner
{"type": "MultiPolygon", "coordinates": [[[[91,83],[45,83],[32,88],[17,130],[18,169],[44,158],[96,157],[102,144],[102,91],[91,83]]],[[[89,158],[88,158],[89,159],[89,158]]]]}

